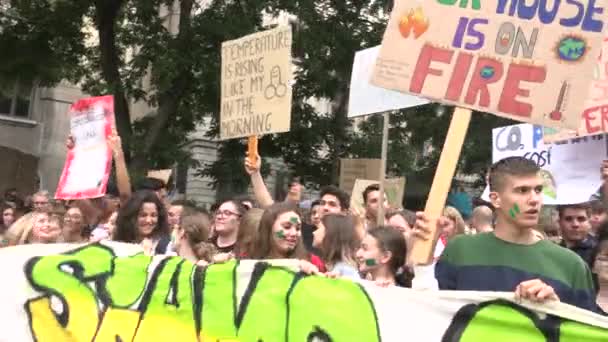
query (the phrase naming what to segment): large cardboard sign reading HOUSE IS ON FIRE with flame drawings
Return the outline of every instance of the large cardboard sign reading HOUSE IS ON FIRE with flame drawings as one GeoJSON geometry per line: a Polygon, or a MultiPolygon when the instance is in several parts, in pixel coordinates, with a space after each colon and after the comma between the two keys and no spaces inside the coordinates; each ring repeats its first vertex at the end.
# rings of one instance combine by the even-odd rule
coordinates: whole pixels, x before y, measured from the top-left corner
{"type": "Polygon", "coordinates": [[[607,1],[395,1],[372,84],[577,129],[607,1]],[[582,93],[581,93],[582,92],[582,93]]]}

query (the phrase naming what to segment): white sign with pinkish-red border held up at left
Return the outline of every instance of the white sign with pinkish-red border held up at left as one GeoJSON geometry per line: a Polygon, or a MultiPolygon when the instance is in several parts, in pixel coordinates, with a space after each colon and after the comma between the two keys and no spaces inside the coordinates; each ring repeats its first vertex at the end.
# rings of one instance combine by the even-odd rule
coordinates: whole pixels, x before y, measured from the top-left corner
{"type": "Polygon", "coordinates": [[[85,199],[105,195],[112,151],[107,140],[114,124],[114,97],[79,100],[70,107],[74,148],[68,151],[56,199],[85,199]]]}

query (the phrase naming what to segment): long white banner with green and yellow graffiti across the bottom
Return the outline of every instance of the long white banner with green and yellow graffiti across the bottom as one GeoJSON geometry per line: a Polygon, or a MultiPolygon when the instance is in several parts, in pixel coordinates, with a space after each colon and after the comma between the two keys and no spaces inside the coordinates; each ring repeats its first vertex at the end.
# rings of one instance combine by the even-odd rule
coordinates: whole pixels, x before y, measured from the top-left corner
{"type": "Polygon", "coordinates": [[[0,341],[608,341],[608,320],[508,293],[414,291],[272,262],[200,268],[125,245],[0,250],[0,341]]]}

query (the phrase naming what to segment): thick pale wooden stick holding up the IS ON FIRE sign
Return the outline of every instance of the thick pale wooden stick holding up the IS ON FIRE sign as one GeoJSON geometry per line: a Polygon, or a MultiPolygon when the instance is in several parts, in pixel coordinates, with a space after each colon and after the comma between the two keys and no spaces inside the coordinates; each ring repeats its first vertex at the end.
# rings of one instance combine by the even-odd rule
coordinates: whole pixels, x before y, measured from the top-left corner
{"type": "Polygon", "coordinates": [[[448,135],[443,144],[443,150],[439,157],[439,163],[435,170],[435,178],[429,197],[426,200],[424,212],[430,220],[431,236],[430,240],[415,240],[409,254],[409,262],[413,265],[428,265],[433,260],[433,252],[439,238],[437,229],[437,219],[442,215],[445,207],[445,201],[450,191],[452,178],[456,172],[462,144],[469,128],[471,121],[471,110],[461,107],[456,107],[448,129],[448,135]]]}

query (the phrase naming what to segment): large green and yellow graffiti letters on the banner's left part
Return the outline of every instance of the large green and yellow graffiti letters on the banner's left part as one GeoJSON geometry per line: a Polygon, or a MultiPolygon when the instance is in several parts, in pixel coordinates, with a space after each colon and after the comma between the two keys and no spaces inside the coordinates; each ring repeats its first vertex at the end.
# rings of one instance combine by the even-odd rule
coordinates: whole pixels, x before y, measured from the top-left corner
{"type": "Polygon", "coordinates": [[[179,257],[115,257],[93,244],[31,259],[38,341],[380,341],[360,286],[257,263],[237,300],[238,263],[201,269],[179,257]],[[52,298],[61,301],[60,308],[52,298]],[[237,303],[239,303],[237,307],[237,303]],[[320,308],[328,308],[328,311],[320,308]],[[356,324],[356,327],[352,325],[356,324]]]}

